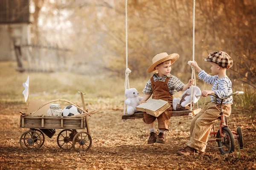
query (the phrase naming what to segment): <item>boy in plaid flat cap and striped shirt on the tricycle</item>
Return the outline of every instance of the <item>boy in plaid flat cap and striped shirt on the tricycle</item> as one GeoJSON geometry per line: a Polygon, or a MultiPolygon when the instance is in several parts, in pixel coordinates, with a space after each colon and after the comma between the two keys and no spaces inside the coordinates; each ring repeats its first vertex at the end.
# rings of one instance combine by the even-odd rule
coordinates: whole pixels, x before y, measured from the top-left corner
{"type": "MultiPolygon", "coordinates": [[[[207,74],[196,62],[191,64],[195,67],[195,70],[199,72],[198,78],[212,85],[212,90],[203,91],[202,96],[206,97],[208,94],[215,94],[223,98],[232,94],[232,83],[226,75],[227,69],[233,65],[232,58],[223,51],[215,51],[210,53],[204,61],[210,63],[212,73],[215,74],[215,76],[207,74]]],[[[211,127],[214,121],[220,116],[220,102],[221,99],[211,96],[211,102],[208,103],[207,106],[204,106],[192,119],[189,142],[187,142],[185,148],[180,148],[177,155],[190,155],[198,152],[204,153],[211,127]]],[[[230,116],[232,102],[232,96],[223,101],[222,109],[226,117],[230,116]]]]}

